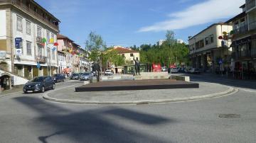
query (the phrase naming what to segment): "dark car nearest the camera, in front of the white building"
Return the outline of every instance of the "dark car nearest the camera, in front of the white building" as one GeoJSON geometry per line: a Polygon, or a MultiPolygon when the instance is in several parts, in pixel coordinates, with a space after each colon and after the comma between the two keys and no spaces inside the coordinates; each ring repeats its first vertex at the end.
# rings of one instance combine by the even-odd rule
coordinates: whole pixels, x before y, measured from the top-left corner
{"type": "Polygon", "coordinates": [[[55,82],[51,76],[38,76],[23,86],[24,93],[45,92],[55,89],[55,82]]]}

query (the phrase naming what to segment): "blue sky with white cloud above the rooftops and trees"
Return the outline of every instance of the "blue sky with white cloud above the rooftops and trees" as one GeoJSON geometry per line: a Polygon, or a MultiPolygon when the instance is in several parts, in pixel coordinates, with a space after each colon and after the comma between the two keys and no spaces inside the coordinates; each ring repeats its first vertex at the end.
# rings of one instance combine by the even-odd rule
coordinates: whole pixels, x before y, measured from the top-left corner
{"type": "Polygon", "coordinates": [[[110,45],[155,44],[174,30],[187,40],[241,12],[245,0],[36,0],[60,19],[60,34],[85,47],[90,31],[110,45]]]}

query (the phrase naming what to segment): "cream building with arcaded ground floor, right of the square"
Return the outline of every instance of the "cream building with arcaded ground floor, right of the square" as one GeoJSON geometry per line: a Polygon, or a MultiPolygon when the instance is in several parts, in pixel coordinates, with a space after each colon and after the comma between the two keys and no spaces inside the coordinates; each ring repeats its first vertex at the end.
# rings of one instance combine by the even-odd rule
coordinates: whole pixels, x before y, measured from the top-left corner
{"type": "Polygon", "coordinates": [[[230,65],[230,44],[226,33],[233,26],[229,23],[214,23],[188,39],[189,56],[193,67],[203,71],[225,70],[230,65]]]}

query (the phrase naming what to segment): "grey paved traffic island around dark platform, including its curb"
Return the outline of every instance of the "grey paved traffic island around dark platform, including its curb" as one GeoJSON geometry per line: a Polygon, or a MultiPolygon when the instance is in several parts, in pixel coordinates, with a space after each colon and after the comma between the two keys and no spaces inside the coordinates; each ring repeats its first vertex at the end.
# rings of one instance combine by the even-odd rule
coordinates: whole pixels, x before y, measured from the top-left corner
{"type": "Polygon", "coordinates": [[[191,101],[213,98],[234,93],[234,88],[220,84],[197,82],[200,88],[161,89],[142,91],[94,91],[75,92],[74,87],[62,89],[61,92],[46,93],[43,98],[62,103],[83,104],[139,104],[166,103],[174,101],[191,101]]]}

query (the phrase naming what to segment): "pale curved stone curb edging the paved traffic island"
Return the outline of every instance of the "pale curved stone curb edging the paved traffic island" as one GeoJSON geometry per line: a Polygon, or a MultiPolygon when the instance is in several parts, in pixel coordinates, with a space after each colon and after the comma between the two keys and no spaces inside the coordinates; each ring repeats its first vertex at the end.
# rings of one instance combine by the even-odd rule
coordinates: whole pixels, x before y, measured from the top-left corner
{"type": "MultiPolygon", "coordinates": [[[[74,85],[73,85],[74,86],[74,85]]],[[[59,89],[60,90],[60,89],[59,89]]],[[[137,105],[137,104],[156,104],[156,103],[171,103],[171,102],[182,102],[182,101],[197,101],[207,98],[218,98],[221,96],[229,96],[233,93],[237,93],[238,89],[228,88],[227,91],[212,93],[205,96],[192,96],[189,98],[173,98],[173,99],[159,99],[159,100],[144,100],[144,101],[75,101],[59,98],[51,98],[48,93],[43,95],[43,98],[48,101],[54,101],[58,103],[76,103],[76,104],[95,104],[95,105],[137,105]]]]}

